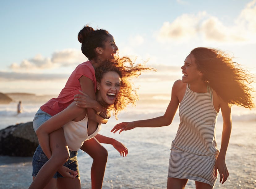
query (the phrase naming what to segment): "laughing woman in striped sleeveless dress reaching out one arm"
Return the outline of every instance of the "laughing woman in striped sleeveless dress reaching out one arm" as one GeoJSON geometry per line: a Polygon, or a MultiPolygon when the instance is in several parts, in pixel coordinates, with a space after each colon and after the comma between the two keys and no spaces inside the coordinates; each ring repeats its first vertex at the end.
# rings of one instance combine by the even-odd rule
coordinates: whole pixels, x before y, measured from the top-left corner
{"type": "Polygon", "coordinates": [[[252,77],[224,52],[195,48],[186,57],[182,79],[173,84],[171,101],[163,116],[117,124],[112,132],[135,127],[170,125],[179,107],[180,124],[172,141],[167,188],[185,188],[188,179],[196,188],[213,188],[228,178],[225,156],[231,133],[231,105],[253,108],[252,77]],[[223,131],[217,148],[215,125],[221,109],[223,131]]]}

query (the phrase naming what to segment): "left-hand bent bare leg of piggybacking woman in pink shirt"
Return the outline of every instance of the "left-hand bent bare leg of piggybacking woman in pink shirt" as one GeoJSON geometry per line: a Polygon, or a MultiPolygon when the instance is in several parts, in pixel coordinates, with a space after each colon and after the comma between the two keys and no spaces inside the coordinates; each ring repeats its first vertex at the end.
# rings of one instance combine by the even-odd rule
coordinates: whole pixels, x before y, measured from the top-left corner
{"type": "Polygon", "coordinates": [[[49,140],[52,156],[41,167],[29,189],[44,188],[53,178],[53,175],[57,172],[60,166],[62,166],[69,158],[69,149],[62,128],[52,132],[49,135],[49,140]]]}

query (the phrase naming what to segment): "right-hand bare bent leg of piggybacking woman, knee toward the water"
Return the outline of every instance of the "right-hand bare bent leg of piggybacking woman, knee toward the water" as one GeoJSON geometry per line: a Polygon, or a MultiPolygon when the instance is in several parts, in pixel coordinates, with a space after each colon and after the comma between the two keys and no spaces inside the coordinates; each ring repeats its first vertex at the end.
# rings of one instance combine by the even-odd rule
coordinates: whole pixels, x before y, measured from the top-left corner
{"type": "Polygon", "coordinates": [[[85,141],[80,149],[88,153],[93,159],[91,168],[92,189],[101,189],[108,151],[95,138],[85,141]]]}

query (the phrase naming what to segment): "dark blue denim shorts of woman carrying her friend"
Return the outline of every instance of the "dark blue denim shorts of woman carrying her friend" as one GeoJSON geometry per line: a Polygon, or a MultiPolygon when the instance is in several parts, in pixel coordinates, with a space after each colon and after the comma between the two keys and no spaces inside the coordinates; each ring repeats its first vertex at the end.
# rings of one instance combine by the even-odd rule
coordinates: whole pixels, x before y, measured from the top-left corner
{"type": "MultiPolygon", "coordinates": [[[[70,156],[69,159],[64,163],[63,166],[66,166],[67,168],[74,170],[78,172],[78,175],[76,177],[80,177],[79,175],[79,169],[78,169],[78,161],[77,161],[77,151],[69,151],[70,156]]],[[[33,156],[32,166],[33,166],[33,172],[32,176],[35,177],[41,167],[48,161],[48,158],[46,157],[45,153],[43,152],[40,145],[36,148],[36,151],[33,156]]],[[[62,178],[63,176],[56,172],[53,176],[54,179],[62,178]]]]}

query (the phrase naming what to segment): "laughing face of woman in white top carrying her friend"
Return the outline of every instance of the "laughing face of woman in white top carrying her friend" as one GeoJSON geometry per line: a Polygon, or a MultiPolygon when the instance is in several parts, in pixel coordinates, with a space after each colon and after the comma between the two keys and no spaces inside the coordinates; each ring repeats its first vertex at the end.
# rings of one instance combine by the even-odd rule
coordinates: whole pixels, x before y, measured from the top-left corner
{"type": "Polygon", "coordinates": [[[114,71],[105,73],[101,81],[97,82],[97,101],[114,104],[120,91],[120,83],[121,78],[118,73],[114,71]]]}

